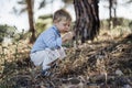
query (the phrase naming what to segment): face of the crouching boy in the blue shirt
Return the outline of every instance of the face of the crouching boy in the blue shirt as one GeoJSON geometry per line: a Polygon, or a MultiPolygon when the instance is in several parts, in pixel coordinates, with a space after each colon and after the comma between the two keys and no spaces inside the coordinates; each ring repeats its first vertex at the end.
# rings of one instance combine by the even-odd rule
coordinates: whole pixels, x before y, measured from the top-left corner
{"type": "Polygon", "coordinates": [[[55,25],[59,30],[61,33],[68,32],[70,29],[70,21],[62,20],[59,22],[56,22],[55,25]]]}

